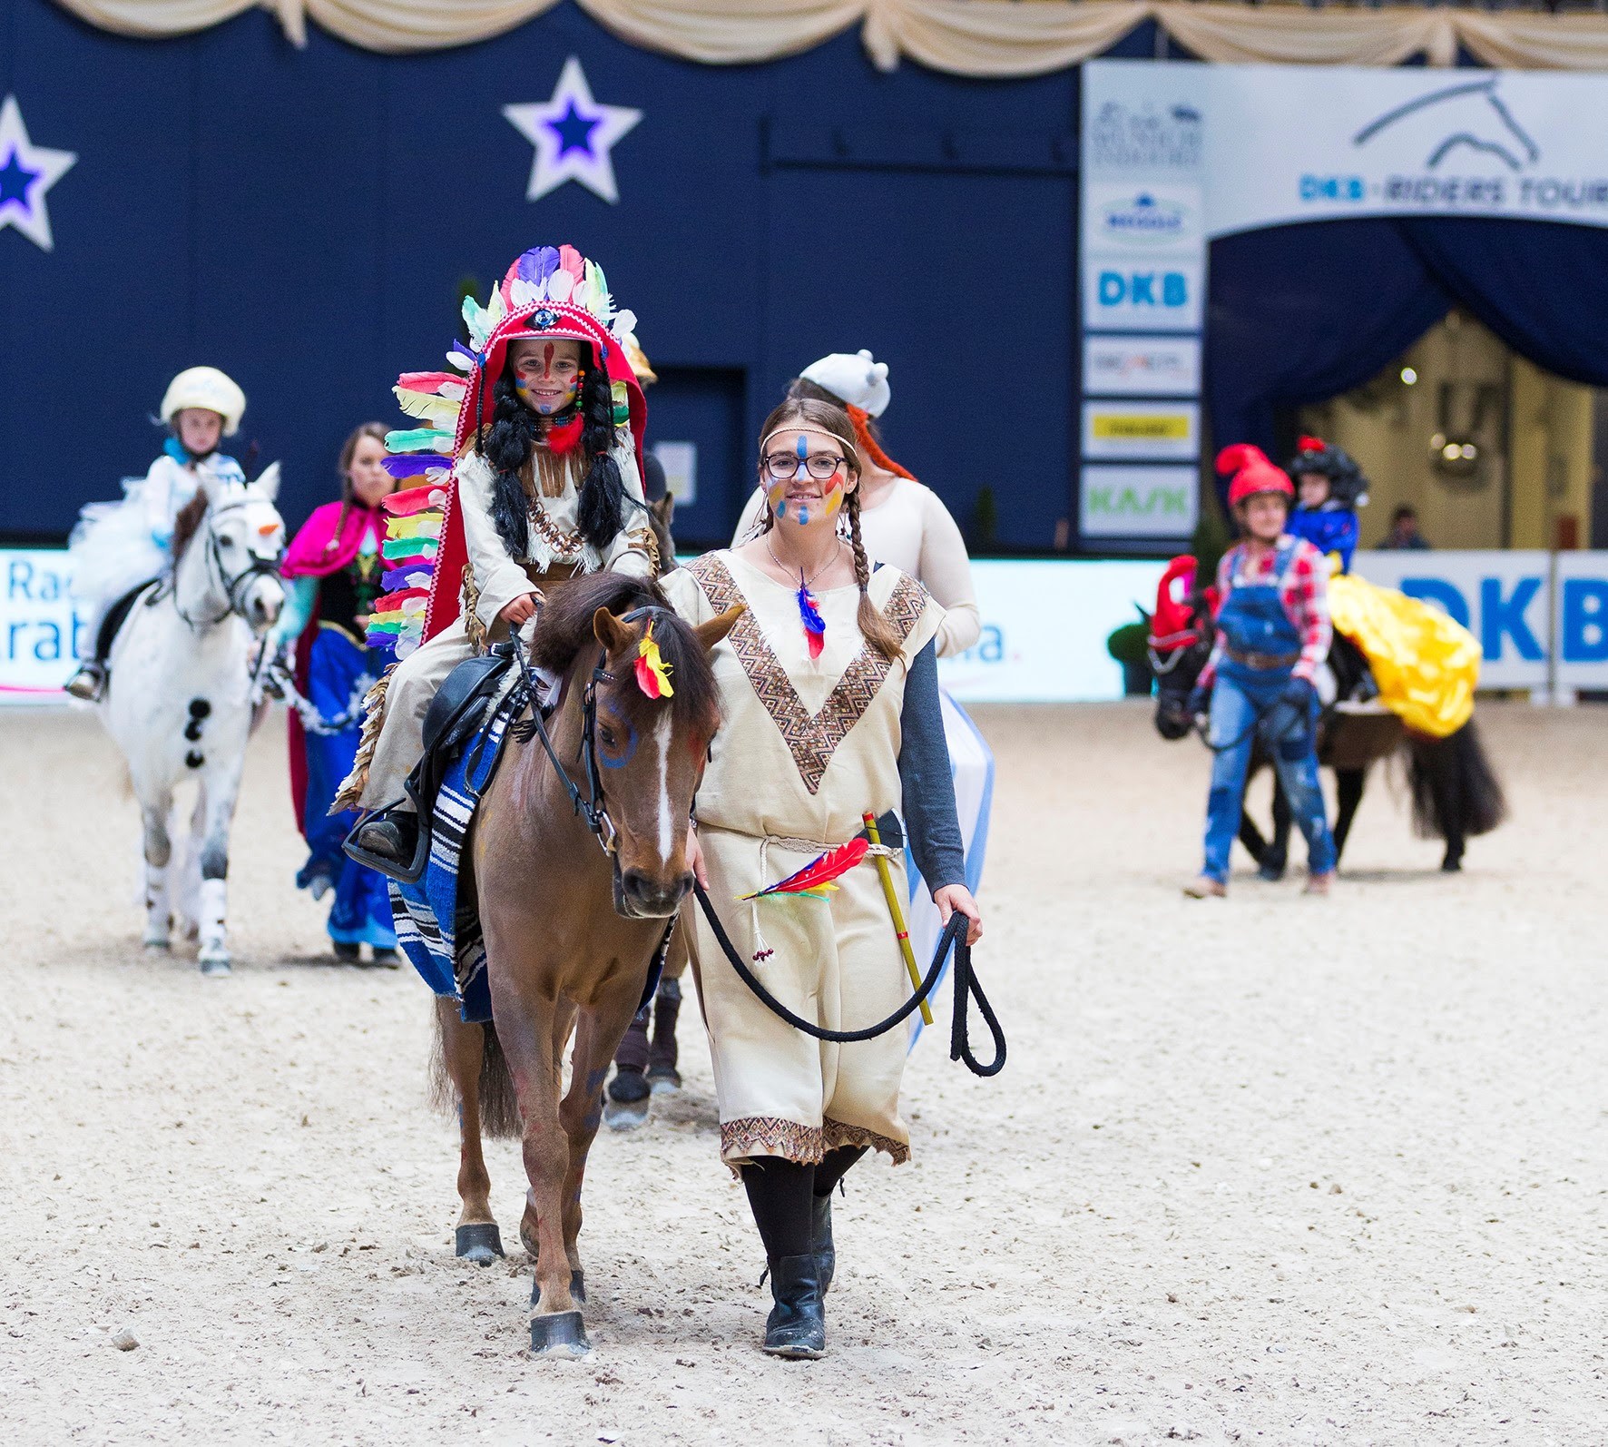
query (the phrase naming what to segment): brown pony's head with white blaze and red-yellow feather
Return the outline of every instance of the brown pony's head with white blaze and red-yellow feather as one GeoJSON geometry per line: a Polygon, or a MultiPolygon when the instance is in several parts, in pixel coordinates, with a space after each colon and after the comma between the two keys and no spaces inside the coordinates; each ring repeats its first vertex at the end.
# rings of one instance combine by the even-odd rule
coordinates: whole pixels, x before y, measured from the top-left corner
{"type": "Polygon", "coordinates": [[[614,908],[626,918],[674,915],[691,889],[687,823],[720,725],[709,653],[740,614],[695,629],[656,584],[617,572],[577,579],[542,609],[532,661],[566,674],[566,691],[592,688],[592,749],[616,833],[614,908]]]}

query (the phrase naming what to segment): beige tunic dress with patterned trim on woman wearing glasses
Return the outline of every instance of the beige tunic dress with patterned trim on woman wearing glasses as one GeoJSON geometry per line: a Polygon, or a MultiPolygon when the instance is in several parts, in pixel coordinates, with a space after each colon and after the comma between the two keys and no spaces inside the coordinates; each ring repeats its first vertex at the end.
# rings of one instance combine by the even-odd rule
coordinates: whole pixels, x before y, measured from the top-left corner
{"type": "MultiPolygon", "coordinates": [[[[817,593],[827,642],[810,659],[794,590],[728,551],[672,572],[664,588],[693,624],[748,605],[714,651],[725,717],[698,789],[698,838],[720,923],[745,960],[759,957],[754,973],[796,1015],[827,1029],[875,1024],[909,998],[910,979],[873,860],[843,875],[827,900],[740,896],[847,842],[867,812],[899,807],[905,670],[944,609],[918,582],[881,568],[870,596],[904,638],[900,659],[862,640],[854,587],[817,593]]],[[[904,891],[902,859],[889,865],[904,891]]],[[[828,1045],[793,1029],[738,979],[703,915],[690,913],[722,1159],[818,1161],[841,1145],[909,1159],[899,1116],[909,1034],[828,1045]]]]}

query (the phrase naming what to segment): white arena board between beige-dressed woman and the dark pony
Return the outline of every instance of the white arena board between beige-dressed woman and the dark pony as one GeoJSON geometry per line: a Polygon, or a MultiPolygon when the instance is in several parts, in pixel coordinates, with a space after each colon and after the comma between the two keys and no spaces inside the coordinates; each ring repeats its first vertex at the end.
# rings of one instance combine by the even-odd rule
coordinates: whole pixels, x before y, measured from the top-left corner
{"type": "Polygon", "coordinates": [[[937,677],[963,703],[1079,703],[1122,696],[1106,638],[1156,606],[1161,563],[978,561],[982,637],[937,677]]]}

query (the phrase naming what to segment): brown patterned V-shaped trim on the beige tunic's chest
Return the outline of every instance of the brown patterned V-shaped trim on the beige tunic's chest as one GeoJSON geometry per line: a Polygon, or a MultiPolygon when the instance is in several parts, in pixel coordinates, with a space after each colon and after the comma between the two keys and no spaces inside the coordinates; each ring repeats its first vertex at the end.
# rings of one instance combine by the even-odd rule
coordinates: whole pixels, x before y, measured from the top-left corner
{"type": "MultiPolygon", "coordinates": [[[[732,571],[712,553],[691,563],[687,571],[696,579],[716,613],[724,613],[733,603],[746,601],[732,577],[732,571]]],[[[892,624],[902,643],[910,637],[910,630],[925,611],[926,590],[913,577],[902,576],[883,609],[883,616],[892,624]]],[[[793,754],[804,788],[814,794],[820,788],[838,744],[865,717],[865,711],[883,687],[892,661],[883,658],[875,648],[862,645],[854,661],[843,670],[838,687],[820,706],[820,712],[810,715],[793,688],[786,669],[781,667],[781,661],[765,642],[753,608],[743,611],[730,632],[730,642],[743,664],[743,672],[748,674],[748,682],[754,687],[754,693],[793,754]]]]}

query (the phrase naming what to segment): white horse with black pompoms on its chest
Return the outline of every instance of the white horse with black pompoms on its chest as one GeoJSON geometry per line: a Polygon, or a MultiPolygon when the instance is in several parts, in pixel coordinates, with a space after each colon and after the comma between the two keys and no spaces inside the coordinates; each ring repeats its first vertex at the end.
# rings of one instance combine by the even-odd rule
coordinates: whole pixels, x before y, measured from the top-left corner
{"type": "Polygon", "coordinates": [[[148,587],[117,630],[98,706],[145,823],[146,949],[167,949],[175,913],[174,789],[198,785],[177,913],[196,931],[203,974],[228,974],[228,826],[257,703],[252,638],[285,605],[278,487],[278,465],[248,484],[203,478],[206,511],[188,539],[180,529],[172,579],[148,587]]]}

